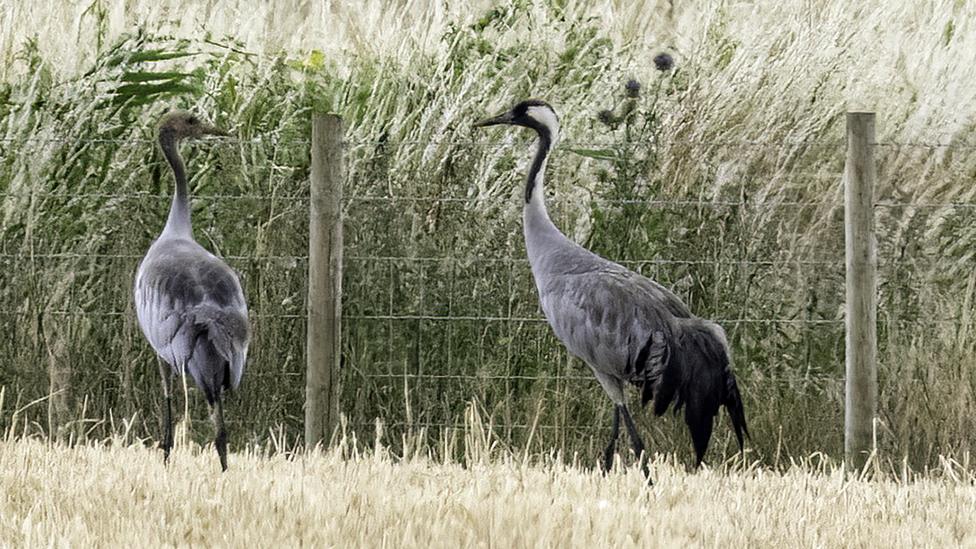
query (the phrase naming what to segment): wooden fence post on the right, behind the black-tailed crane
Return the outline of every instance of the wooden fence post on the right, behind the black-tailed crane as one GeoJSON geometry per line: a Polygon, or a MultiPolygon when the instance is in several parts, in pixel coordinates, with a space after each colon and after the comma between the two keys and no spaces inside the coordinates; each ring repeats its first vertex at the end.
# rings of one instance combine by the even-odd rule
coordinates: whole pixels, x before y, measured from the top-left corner
{"type": "Polygon", "coordinates": [[[872,450],[878,405],[874,120],[873,112],[847,113],[844,458],[857,468],[864,465],[872,450]]]}

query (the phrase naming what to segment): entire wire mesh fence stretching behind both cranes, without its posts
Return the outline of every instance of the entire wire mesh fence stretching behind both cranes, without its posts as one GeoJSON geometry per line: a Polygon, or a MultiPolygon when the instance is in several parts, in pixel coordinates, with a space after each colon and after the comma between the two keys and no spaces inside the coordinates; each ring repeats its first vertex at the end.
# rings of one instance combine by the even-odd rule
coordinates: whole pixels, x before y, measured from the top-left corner
{"type": "MultiPolygon", "coordinates": [[[[136,325],[131,288],[165,219],[170,183],[150,143],[138,145],[87,143],[84,161],[37,163],[47,166],[42,172],[14,161],[0,172],[0,385],[21,404],[71,394],[60,404],[68,409],[51,399],[25,411],[38,430],[114,416],[136,417],[141,434],[156,433],[156,359],[136,325]],[[92,159],[101,159],[100,171],[92,159]]],[[[906,149],[953,150],[961,166],[972,160],[966,147],[879,145],[883,181],[897,180],[906,149]]],[[[36,162],[70,158],[78,145],[35,146],[36,162]]],[[[463,428],[465,409],[476,403],[513,446],[532,439],[566,452],[599,447],[608,401],[538,307],[519,228],[520,165],[506,160],[518,157],[515,146],[347,143],[340,402],[362,439],[380,418],[394,445],[418,429],[433,441],[463,428]]],[[[696,184],[711,194],[677,195],[663,192],[663,164],[623,186],[617,166],[571,153],[597,146],[614,144],[564,143],[567,160],[553,159],[549,208],[557,226],[725,327],[767,451],[840,447],[843,143],[704,143],[713,164],[696,184]],[[728,168],[743,150],[765,159],[747,174],[728,168]],[[580,183],[587,178],[599,185],[580,183]],[[768,193],[770,181],[786,182],[785,190],[768,193]],[[798,412],[802,428],[777,441],[782,418],[798,412]],[[804,446],[811,433],[818,439],[804,446]]],[[[635,146],[660,144],[620,150],[635,146]]],[[[239,271],[251,311],[247,372],[228,407],[238,441],[302,430],[308,147],[302,139],[255,140],[187,151],[196,237],[239,271]]],[[[973,206],[893,192],[879,198],[882,332],[913,329],[920,318],[959,322],[951,311],[927,309],[918,290],[952,276],[958,263],[946,262],[944,248],[918,243],[933,226],[959,229],[973,206]]],[[[940,234],[955,234],[950,229],[940,234]]],[[[968,241],[968,232],[957,232],[968,241]]],[[[190,398],[202,419],[202,397],[190,398]]],[[[652,431],[655,450],[685,446],[679,422],[645,415],[641,428],[652,431]]]]}

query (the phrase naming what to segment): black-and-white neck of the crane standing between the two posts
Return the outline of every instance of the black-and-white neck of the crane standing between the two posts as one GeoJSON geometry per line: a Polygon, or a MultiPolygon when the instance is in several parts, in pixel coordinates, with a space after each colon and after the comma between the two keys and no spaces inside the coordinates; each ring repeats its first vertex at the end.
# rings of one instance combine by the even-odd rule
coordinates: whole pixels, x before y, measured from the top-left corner
{"type": "Polygon", "coordinates": [[[552,220],[549,219],[549,213],[546,211],[544,184],[546,163],[556,136],[551,135],[546,128],[541,128],[538,132],[538,149],[535,158],[532,160],[532,167],[529,169],[528,180],[525,184],[525,207],[522,211],[525,248],[534,273],[536,273],[537,266],[546,252],[568,241],[553,225],[552,220]]]}

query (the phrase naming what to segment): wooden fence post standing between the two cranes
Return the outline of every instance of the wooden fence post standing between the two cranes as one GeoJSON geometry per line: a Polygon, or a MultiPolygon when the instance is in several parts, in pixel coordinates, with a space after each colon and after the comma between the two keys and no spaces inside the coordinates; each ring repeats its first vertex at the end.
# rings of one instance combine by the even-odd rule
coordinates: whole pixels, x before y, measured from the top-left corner
{"type": "Polygon", "coordinates": [[[342,320],[342,119],[312,119],[305,445],[327,444],[339,421],[342,320]]]}

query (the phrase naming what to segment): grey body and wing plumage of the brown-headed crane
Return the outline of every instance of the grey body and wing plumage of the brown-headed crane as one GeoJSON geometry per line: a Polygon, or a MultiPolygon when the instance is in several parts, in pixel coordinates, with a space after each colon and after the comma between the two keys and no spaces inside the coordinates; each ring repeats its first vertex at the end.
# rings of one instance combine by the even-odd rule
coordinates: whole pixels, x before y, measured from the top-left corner
{"type": "Polygon", "coordinates": [[[194,242],[162,244],[150,249],[136,276],[143,332],[163,360],[185,368],[208,393],[218,384],[236,388],[249,341],[237,275],[194,242]]]}

